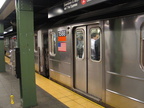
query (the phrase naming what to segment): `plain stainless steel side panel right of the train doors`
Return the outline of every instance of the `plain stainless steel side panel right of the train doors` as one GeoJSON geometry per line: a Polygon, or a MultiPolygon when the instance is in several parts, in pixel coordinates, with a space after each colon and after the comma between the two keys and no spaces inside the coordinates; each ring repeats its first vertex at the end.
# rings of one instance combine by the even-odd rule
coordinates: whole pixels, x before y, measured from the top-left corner
{"type": "Polygon", "coordinates": [[[104,23],[106,103],[114,107],[142,108],[144,105],[144,72],[139,62],[142,21],[138,18],[128,16],[104,23]]]}

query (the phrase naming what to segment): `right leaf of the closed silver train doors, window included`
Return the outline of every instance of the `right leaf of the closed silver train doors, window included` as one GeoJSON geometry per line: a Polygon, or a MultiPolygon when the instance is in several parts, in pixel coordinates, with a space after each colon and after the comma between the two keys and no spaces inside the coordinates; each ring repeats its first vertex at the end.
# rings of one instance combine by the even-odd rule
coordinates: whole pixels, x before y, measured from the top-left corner
{"type": "Polygon", "coordinates": [[[87,27],[88,93],[102,98],[102,24],[87,27]]]}

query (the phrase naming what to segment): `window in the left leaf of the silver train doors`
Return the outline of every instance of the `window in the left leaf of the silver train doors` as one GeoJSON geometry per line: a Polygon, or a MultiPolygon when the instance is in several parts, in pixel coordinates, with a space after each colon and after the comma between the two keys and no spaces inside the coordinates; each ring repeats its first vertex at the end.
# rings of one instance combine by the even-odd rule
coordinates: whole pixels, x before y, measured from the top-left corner
{"type": "Polygon", "coordinates": [[[84,30],[76,29],[76,57],[79,59],[84,58],[84,30]]]}

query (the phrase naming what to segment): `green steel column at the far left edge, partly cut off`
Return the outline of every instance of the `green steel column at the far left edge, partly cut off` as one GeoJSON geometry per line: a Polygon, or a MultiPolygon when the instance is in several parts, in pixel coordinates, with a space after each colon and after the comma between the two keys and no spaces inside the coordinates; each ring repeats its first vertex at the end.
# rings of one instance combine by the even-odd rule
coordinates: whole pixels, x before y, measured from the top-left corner
{"type": "Polygon", "coordinates": [[[0,72],[5,72],[3,32],[4,32],[4,25],[0,22],[0,72]]]}

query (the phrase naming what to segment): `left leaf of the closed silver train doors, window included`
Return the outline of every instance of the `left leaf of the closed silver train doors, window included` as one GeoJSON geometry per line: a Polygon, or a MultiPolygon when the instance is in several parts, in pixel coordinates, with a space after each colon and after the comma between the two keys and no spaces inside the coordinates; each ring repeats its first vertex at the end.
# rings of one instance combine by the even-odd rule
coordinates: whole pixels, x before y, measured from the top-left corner
{"type": "Polygon", "coordinates": [[[75,88],[87,91],[86,27],[75,29],[75,88]]]}

